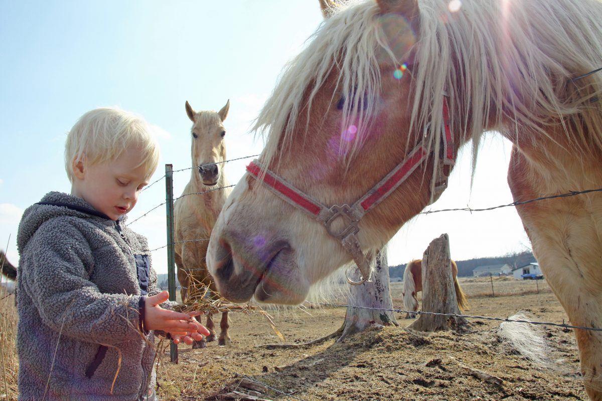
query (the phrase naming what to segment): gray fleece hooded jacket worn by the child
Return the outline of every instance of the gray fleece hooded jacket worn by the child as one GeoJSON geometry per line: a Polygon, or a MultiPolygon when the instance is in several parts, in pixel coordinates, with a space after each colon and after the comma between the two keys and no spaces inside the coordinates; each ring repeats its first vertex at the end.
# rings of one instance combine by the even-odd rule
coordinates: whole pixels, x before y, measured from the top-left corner
{"type": "Polygon", "coordinates": [[[152,393],[154,337],[141,321],[144,295],[158,290],[146,239],[81,198],[50,192],[23,213],[17,247],[19,400],[152,393]]]}

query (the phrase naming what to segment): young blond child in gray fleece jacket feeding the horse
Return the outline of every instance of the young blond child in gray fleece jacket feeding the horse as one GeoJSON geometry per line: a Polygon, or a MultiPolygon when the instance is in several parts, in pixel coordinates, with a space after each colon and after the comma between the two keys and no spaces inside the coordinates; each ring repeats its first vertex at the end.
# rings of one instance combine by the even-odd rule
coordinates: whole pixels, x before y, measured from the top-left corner
{"type": "Polygon", "coordinates": [[[67,135],[71,194],[30,206],[17,234],[19,400],[156,400],[153,331],[209,334],[168,309],[146,239],[123,224],[158,158],[146,122],[119,109],[67,135]]]}

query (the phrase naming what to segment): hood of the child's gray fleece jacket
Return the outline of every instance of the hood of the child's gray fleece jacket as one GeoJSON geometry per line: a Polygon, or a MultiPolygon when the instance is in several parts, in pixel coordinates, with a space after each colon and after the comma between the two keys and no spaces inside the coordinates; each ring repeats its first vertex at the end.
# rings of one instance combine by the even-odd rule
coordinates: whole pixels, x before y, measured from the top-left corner
{"type": "MultiPolygon", "coordinates": [[[[74,197],[63,192],[49,192],[39,203],[25,209],[17,231],[17,249],[19,254],[34,236],[40,225],[59,216],[73,216],[82,219],[92,219],[101,224],[111,225],[115,222],[108,216],[87,203],[82,198],[74,197]]],[[[123,219],[120,219],[123,221],[123,219]]]]}

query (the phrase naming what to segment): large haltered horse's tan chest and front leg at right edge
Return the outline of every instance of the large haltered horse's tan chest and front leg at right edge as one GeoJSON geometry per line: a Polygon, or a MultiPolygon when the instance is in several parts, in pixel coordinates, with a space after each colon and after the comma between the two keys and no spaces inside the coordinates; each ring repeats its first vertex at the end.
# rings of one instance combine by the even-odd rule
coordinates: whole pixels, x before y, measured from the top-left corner
{"type": "MultiPolygon", "coordinates": [[[[537,185],[547,182],[513,148],[508,183],[514,199],[525,200],[545,193],[537,185]]],[[[547,192],[566,191],[559,186],[547,192]]],[[[602,328],[602,209],[597,196],[517,206],[545,280],[571,325],[589,328],[602,328]]],[[[574,332],[586,393],[591,401],[602,401],[602,333],[583,329],[574,332]]]]}

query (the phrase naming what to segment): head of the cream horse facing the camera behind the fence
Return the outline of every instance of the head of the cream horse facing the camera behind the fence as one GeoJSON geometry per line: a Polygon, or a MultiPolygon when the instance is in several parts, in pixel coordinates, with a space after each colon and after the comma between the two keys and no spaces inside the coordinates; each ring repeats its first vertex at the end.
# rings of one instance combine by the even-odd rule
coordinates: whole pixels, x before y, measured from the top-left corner
{"type": "Polygon", "coordinates": [[[219,112],[195,112],[188,101],[185,107],[188,118],[193,122],[191,128],[193,167],[198,168],[197,177],[203,185],[214,186],[220,179],[219,163],[226,160],[224,144],[226,129],[223,122],[228,116],[230,100],[219,112]]]}

